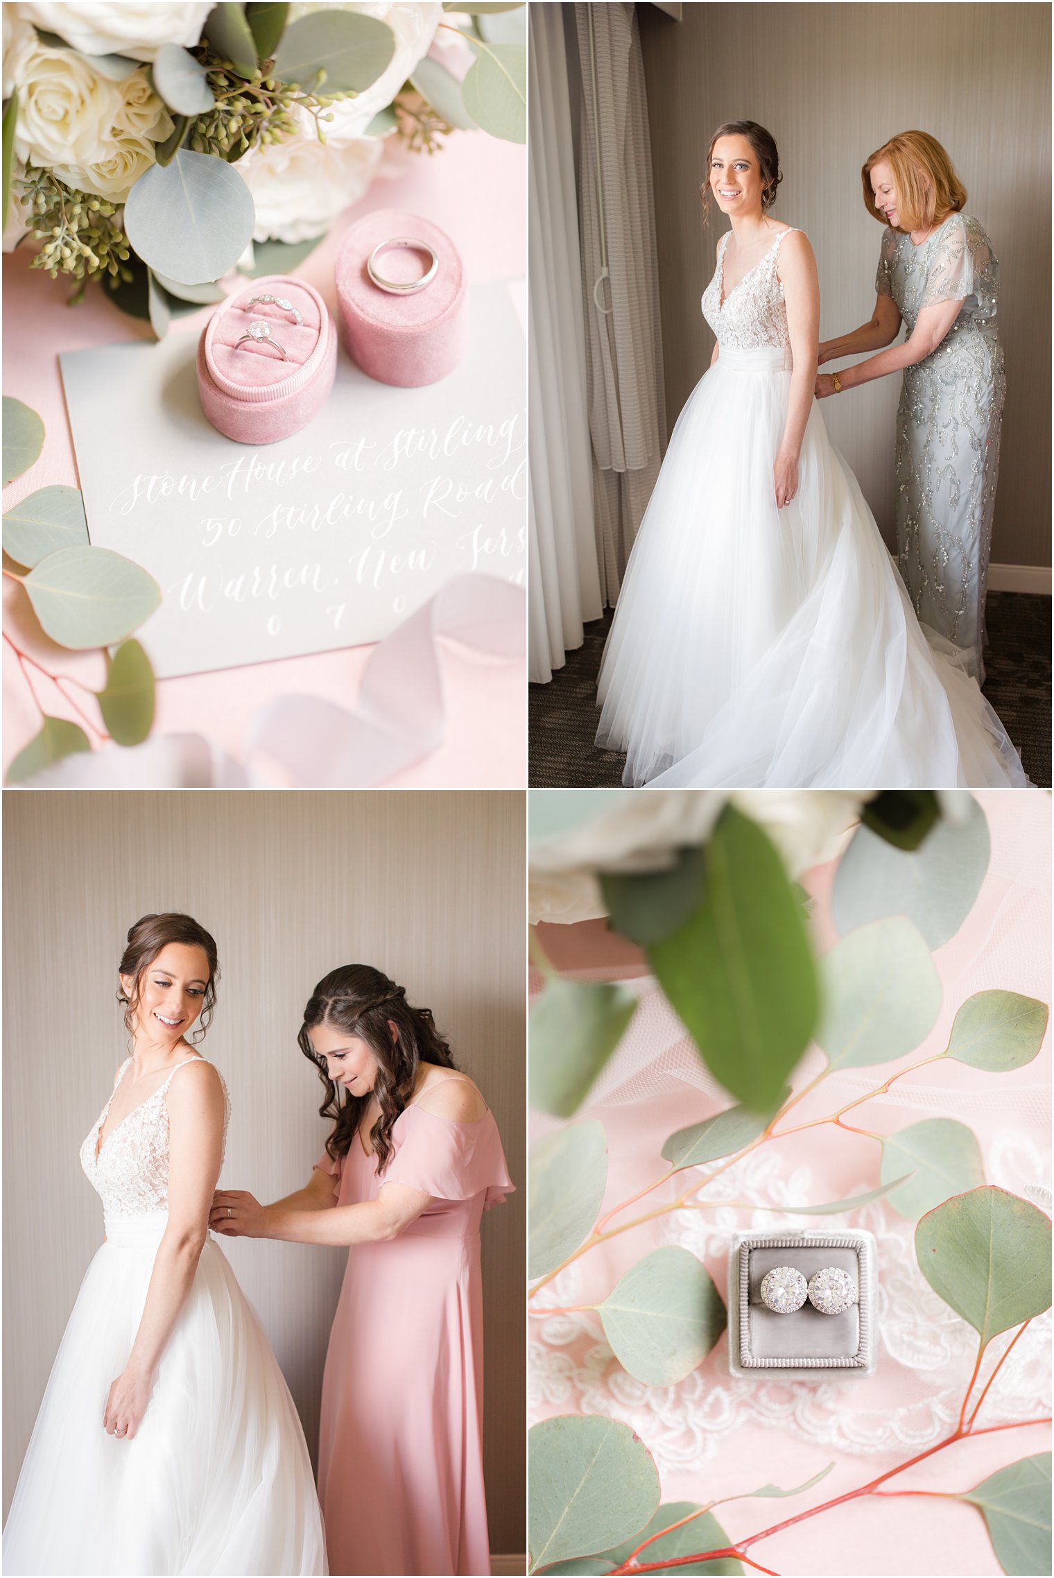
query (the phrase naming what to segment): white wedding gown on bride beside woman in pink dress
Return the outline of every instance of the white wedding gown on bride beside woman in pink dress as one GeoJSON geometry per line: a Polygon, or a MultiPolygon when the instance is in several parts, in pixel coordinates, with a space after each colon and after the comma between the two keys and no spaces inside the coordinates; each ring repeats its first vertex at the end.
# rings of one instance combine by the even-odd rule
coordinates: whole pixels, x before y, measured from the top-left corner
{"type": "Polygon", "coordinates": [[[80,1149],[103,1196],[106,1243],[36,1415],[3,1532],[5,1573],[327,1572],[293,1400],[211,1234],[136,1436],[118,1441],[103,1428],[167,1221],[166,1092],[175,1075],[99,1150],[110,1095],[80,1149]]]}

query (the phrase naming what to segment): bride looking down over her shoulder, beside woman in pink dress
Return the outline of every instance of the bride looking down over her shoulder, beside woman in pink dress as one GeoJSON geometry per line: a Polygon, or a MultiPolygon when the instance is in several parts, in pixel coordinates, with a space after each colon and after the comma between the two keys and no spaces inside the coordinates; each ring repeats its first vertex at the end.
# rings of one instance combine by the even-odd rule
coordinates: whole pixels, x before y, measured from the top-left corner
{"type": "Polygon", "coordinates": [[[22,1463],[5,1572],[327,1572],[293,1400],[208,1232],[227,1094],[186,1037],[218,975],[189,915],[128,933],[131,1057],[80,1149],[106,1242],[22,1463]]]}

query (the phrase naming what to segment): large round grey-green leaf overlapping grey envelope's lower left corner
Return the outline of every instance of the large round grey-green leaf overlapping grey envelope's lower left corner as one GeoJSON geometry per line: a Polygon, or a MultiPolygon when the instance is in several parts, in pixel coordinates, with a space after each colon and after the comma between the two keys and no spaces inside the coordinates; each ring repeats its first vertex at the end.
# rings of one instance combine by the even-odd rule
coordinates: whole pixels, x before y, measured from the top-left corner
{"type": "Polygon", "coordinates": [[[112,647],[161,603],[161,587],[109,548],[60,548],[22,582],[41,628],[60,647],[112,647]]]}

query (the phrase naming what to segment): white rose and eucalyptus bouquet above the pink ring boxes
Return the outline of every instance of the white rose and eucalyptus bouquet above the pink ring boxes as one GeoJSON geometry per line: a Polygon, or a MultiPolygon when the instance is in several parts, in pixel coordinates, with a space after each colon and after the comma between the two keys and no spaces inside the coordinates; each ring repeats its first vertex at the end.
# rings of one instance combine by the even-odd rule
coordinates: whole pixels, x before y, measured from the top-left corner
{"type": "Polygon", "coordinates": [[[3,6],[5,249],[164,333],[284,271],[393,150],[525,140],[521,3],[3,6]],[[456,13],[453,17],[445,13],[456,13]],[[467,66],[467,69],[465,69],[467,66]],[[461,76],[459,76],[461,73],[461,76]]]}

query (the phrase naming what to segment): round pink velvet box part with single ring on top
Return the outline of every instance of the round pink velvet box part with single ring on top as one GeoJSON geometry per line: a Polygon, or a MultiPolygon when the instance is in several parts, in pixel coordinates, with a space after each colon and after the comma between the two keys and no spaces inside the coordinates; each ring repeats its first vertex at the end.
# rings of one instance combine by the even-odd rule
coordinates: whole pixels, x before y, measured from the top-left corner
{"type": "MultiPolygon", "coordinates": [[[[426,251],[391,248],[377,259],[385,279],[420,279],[431,267],[426,251]]],[[[346,232],[336,259],[336,301],[344,346],[353,361],[380,383],[413,388],[451,372],[465,347],[469,311],[465,271],[450,237],[417,213],[380,208],[346,232]],[[412,237],[435,252],[435,278],[421,290],[398,295],[376,286],[366,271],[382,241],[412,237]]]]}

